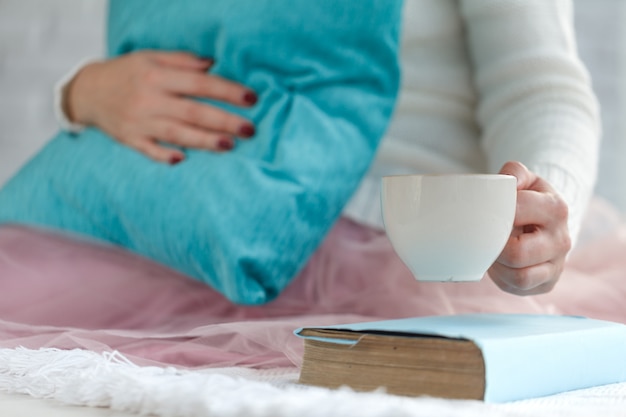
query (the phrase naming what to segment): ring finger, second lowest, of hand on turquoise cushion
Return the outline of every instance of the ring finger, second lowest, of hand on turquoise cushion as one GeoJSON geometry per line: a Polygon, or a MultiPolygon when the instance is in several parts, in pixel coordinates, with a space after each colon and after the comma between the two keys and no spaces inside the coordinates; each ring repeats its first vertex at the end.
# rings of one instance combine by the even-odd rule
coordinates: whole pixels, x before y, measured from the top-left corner
{"type": "Polygon", "coordinates": [[[150,126],[152,137],[184,148],[229,151],[235,147],[235,141],[230,135],[207,132],[176,120],[159,119],[150,126]]]}

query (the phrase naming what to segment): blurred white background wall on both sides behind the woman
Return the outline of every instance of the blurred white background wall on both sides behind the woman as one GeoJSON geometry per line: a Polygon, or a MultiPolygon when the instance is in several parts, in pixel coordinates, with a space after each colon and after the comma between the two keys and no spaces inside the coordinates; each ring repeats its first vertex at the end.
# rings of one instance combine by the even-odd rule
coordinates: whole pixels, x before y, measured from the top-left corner
{"type": "MultiPolygon", "coordinates": [[[[574,5],[603,108],[597,194],[626,213],[626,1],[574,5]]],[[[82,58],[102,56],[105,12],[106,0],[0,0],[0,185],[57,130],[55,81],[82,58]]]]}

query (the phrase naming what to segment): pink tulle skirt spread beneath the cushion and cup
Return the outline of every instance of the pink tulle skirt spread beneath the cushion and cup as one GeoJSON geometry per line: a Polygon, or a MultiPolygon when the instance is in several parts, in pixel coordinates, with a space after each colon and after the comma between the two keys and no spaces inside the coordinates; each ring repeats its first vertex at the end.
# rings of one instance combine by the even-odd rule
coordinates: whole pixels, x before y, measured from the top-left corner
{"type": "Polygon", "coordinates": [[[488,279],[419,283],[385,235],[342,219],[274,302],[231,305],[205,285],[115,247],[0,228],[0,347],[119,350],[141,364],[300,363],[300,326],[463,312],[578,314],[626,323],[626,225],[574,251],[556,289],[518,297],[488,279]]]}

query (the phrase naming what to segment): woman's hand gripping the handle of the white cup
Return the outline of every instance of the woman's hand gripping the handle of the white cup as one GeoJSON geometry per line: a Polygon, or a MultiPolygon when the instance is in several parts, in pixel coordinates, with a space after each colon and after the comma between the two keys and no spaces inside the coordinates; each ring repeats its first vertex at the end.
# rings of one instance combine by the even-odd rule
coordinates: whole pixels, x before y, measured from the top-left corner
{"type": "Polygon", "coordinates": [[[519,162],[507,162],[500,174],[517,177],[517,208],[513,232],[488,274],[513,294],[548,292],[563,272],[571,248],[567,204],[519,162]]]}

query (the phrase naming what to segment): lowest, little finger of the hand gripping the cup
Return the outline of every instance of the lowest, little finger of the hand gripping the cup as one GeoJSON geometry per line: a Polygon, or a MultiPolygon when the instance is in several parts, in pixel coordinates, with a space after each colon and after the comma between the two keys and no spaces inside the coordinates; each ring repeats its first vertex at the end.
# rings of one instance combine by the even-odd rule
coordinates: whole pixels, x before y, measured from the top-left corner
{"type": "Polygon", "coordinates": [[[516,295],[536,295],[551,291],[559,276],[559,268],[552,262],[543,262],[525,268],[509,268],[495,263],[489,277],[503,291],[516,295]]]}

